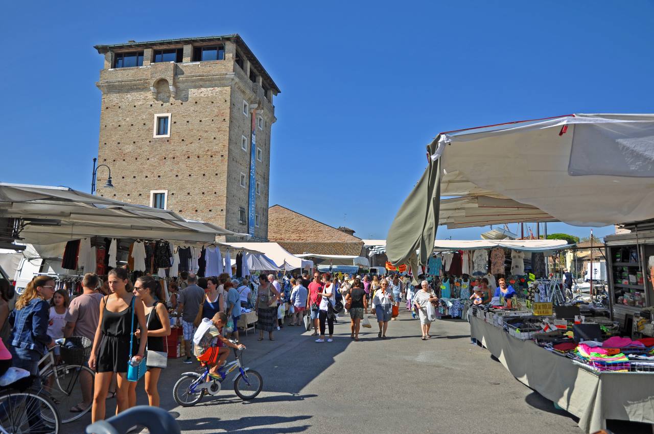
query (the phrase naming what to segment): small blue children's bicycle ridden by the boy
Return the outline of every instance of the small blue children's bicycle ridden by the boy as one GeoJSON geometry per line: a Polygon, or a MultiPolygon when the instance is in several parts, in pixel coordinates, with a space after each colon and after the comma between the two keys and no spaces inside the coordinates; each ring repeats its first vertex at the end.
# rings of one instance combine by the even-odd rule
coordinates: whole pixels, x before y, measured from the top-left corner
{"type": "MultiPolygon", "coordinates": [[[[237,343],[236,341],[230,342],[237,343]]],[[[241,359],[243,350],[233,348],[233,352],[235,360],[230,361],[230,363],[220,368],[220,371],[224,373],[223,378],[220,380],[209,376],[209,369],[211,367],[207,363],[202,363],[205,368],[203,373],[183,373],[181,378],[175,383],[175,387],[173,387],[173,398],[175,398],[175,402],[183,407],[190,407],[199,403],[207,393],[211,396],[218,395],[222,388],[222,382],[237,368],[239,371],[234,376],[234,392],[241,399],[248,400],[256,398],[256,395],[261,392],[264,386],[264,380],[262,380],[258,372],[243,367],[243,361],[241,359]],[[207,381],[207,378],[209,378],[209,381],[207,381]]]]}

